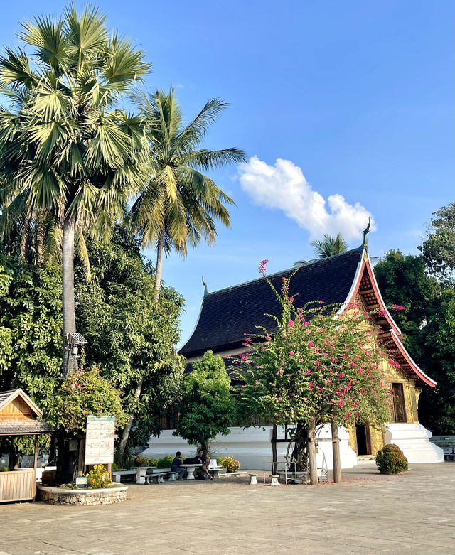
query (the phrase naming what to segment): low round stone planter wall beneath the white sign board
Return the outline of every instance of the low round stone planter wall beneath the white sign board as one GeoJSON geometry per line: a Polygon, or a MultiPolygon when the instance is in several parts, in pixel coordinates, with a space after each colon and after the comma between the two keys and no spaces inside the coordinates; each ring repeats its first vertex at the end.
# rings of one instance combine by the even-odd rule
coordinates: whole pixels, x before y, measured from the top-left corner
{"type": "Polygon", "coordinates": [[[37,485],[39,500],[49,505],[112,505],[127,499],[127,485],[97,490],[65,490],[63,487],[37,485]]]}

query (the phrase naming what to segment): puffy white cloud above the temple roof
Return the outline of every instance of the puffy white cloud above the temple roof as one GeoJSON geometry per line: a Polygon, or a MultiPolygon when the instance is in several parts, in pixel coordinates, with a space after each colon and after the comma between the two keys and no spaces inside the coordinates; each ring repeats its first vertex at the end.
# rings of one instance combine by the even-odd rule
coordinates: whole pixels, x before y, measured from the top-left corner
{"type": "MultiPolygon", "coordinates": [[[[277,158],[275,165],[269,166],[253,156],[240,164],[239,169],[242,189],[255,204],[283,210],[287,217],[310,232],[311,239],[338,232],[348,241],[361,237],[371,217],[360,203],[350,205],[339,193],[330,195],[326,202],[311,188],[301,168],[289,160],[277,158]]],[[[376,229],[373,217],[371,229],[376,229]]]]}

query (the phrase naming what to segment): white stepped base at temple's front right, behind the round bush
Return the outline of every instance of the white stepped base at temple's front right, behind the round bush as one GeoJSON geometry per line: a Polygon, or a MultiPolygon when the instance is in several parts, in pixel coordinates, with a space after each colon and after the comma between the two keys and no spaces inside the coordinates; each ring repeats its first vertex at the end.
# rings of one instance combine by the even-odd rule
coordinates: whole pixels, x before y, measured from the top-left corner
{"type": "Polygon", "coordinates": [[[387,424],[385,443],[395,443],[409,463],[444,463],[444,451],[429,441],[432,433],[422,424],[387,424]]]}

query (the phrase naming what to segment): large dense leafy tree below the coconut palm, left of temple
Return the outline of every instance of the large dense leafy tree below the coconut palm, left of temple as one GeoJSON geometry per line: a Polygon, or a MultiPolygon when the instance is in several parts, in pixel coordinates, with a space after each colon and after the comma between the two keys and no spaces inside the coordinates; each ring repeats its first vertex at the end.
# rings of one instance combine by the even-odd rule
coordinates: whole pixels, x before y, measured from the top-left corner
{"type": "Polygon", "coordinates": [[[173,344],[178,342],[178,316],[183,298],[162,286],[154,303],[154,268],[143,262],[139,246],[121,227],[113,241],[87,242],[92,280],[77,266],[77,320],[88,340],[87,362],[96,362],[103,375],[122,390],[131,415],[124,427],[119,458],[132,428],[134,440],[145,443],[161,431],[161,416],[178,399],[183,364],[173,344]],[[137,384],[141,386],[137,394],[137,384]]]}

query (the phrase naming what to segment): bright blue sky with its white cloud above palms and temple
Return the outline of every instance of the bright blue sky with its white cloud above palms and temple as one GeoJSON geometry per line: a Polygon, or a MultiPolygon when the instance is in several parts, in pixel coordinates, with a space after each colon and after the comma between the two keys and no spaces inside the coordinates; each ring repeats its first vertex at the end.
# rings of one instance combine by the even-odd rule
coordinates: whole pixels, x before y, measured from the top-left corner
{"type": "MultiPolygon", "coordinates": [[[[287,268],[311,259],[309,241],[326,231],[356,247],[368,213],[372,254],[415,253],[432,212],[454,200],[451,1],[96,5],[148,53],[146,86],[175,85],[188,119],[210,97],[228,101],[206,146],[252,158],[213,173],[237,203],[232,229],[219,228],[215,247],[164,262],[165,281],[186,298],[182,341],[201,275],[214,291],[255,279],[264,258],[269,271],[287,268]]],[[[62,6],[9,3],[2,43],[14,45],[20,21],[62,6]]]]}

